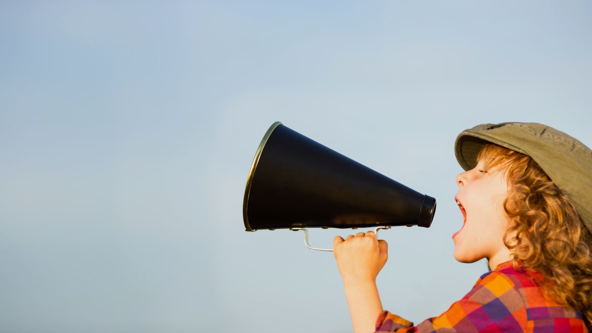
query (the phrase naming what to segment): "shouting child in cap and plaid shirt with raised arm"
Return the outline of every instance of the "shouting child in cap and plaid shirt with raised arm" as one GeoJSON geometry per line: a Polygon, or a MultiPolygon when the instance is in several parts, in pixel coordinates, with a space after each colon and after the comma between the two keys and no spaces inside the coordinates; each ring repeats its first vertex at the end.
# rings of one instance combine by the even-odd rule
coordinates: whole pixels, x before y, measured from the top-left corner
{"type": "Polygon", "coordinates": [[[355,333],[588,332],[592,325],[592,151],[538,123],[481,124],[455,143],[466,171],[455,197],[460,262],[491,271],[446,312],[417,326],[382,309],[376,277],[387,242],[336,236],[355,333]]]}

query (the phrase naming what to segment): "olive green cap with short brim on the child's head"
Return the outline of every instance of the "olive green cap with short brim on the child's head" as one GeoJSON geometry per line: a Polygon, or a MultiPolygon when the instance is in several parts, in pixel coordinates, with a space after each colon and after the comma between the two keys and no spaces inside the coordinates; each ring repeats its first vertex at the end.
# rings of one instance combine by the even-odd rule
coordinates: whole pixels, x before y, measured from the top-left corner
{"type": "Polygon", "coordinates": [[[485,143],[530,156],[575,205],[592,233],[592,151],[564,132],[539,123],[480,124],[456,137],[454,153],[465,170],[477,165],[485,143]]]}

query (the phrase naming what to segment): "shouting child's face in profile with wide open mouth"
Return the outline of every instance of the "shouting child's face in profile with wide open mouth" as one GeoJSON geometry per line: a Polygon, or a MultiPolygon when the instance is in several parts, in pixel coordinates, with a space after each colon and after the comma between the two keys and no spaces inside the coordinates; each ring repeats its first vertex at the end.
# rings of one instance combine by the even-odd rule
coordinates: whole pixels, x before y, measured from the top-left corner
{"type": "Polygon", "coordinates": [[[503,209],[508,194],[507,177],[501,169],[483,168],[481,159],[477,167],[456,176],[456,200],[466,219],[462,229],[452,236],[454,257],[460,262],[490,260],[507,252],[503,242],[508,225],[503,209]]]}

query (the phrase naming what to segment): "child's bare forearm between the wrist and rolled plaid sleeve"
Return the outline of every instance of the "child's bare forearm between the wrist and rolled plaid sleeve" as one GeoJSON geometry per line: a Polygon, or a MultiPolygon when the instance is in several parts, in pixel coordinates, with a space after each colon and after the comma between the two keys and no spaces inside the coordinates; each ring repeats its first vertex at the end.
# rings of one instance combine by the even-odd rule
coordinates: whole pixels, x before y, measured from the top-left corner
{"type": "Polygon", "coordinates": [[[343,281],[354,333],[372,333],[382,312],[376,281],[343,281]]]}

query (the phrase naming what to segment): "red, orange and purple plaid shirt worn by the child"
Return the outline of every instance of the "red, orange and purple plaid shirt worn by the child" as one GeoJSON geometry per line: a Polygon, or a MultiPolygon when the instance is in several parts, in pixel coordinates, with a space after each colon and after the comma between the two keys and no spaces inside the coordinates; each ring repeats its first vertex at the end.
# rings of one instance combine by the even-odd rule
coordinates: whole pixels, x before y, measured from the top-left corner
{"type": "Polygon", "coordinates": [[[543,297],[543,277],[514,270],[511,261],[483,274],[471,291],[446,312],[417,326],[388,311],[377,332],[588,332],[582,313],[543,297]]]}

